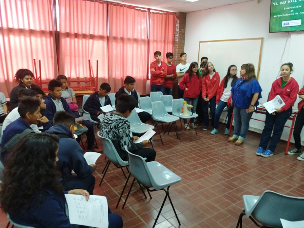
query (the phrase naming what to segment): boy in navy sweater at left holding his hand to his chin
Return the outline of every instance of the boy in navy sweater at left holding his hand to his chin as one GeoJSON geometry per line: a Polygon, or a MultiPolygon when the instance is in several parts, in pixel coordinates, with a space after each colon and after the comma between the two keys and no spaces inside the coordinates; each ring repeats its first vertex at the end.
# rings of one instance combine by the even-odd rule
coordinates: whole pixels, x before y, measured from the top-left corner
{"type": "MultiPolygon", "coordinates": [[[[1,148],[15,135],[21,134],[26,129],[32,129],[31,124],[38,124],[39,122],[48,124],[49,120],[40,114],[40,99],[37,97],[23,97],[18,103],[18,112],[20,118],[10,123],[2,135],[1,148]]],[[[2,161],[9,154],[8,151],[1,153],[2,161]]]]}

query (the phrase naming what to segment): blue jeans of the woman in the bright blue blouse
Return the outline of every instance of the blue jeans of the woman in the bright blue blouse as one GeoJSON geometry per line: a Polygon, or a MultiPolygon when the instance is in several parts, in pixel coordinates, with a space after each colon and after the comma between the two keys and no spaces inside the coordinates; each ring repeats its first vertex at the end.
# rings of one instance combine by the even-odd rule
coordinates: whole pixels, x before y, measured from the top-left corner
{"type": "Polygon", "coordinates": [[[234,131],[233,137],[244,140],[246,138],[249,121],[251,119],[253,112],[247,113],[246,108],[240,108],[234,106],[233,108],[233,120],[234,120],[234,131]]]}

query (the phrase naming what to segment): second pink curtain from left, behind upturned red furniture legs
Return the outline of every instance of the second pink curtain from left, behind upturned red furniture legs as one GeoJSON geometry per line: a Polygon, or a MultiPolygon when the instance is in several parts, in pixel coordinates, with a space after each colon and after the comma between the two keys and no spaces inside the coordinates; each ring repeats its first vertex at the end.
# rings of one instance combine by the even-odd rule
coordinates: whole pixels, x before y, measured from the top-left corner
{"type": "MultiPolygon", "coordinates": [[[[71,86],[89,86],[89,65],[98,84],[108,81],[107,5],[93,1],[59,0],[59,73],[78,81],[71,86]]],[[[99,85],[97,87],[99,88],[99,85]]]]}

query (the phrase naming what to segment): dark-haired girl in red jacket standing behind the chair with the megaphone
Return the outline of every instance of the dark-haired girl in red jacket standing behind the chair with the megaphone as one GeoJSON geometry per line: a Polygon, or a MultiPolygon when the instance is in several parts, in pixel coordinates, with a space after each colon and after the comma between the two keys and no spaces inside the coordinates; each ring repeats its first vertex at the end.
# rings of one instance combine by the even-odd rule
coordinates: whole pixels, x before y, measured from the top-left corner
{"type": "MultiPolygon", "coordinates": [[[[183,76],[182,80],[179,83],[179,88],[184,91],[184,100],[193,106],[191,112],[196,112],[196,106],[198,97],[202,91],[202,78],[198,73],[198,64],[197,62],[192,62],[189,66],[187,73],[183,76]]],[[[191,127],[196,128],[194,124],[194,118],[190,118],[191,127]]],[[[185,129],[190,130],[187,119],[184,119],[185,129]]]]}

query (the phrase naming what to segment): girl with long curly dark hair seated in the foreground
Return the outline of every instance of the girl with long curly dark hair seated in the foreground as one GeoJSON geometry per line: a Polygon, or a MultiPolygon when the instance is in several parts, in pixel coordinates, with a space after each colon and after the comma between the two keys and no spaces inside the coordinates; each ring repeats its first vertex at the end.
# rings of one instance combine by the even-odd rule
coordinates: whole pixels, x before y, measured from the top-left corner
{"type": "MultiPolygon", "coordinates": [[[[7,159],[0,191],[1,208],[12,221],[31,227],[79,228],[66,215],[65,194],[90,194],[83,189],[65,191],[56,168],[58,137],[48,133],[26,135],[7,159]]],[[[70,209],[71,210],[71,209],[70,209]]],[[[70,212],[71,213],[71,212],[70,212]]],[[[96,215],[98,218],[98,214],[96,215]]],[[[101,215],[100,215],[101,216],[101,215]]],[[[122,228],[121,216],[108,208],[111,228],[122,228]]],[[[83,227],[83,226],[81,226],[83,227]]]]}

